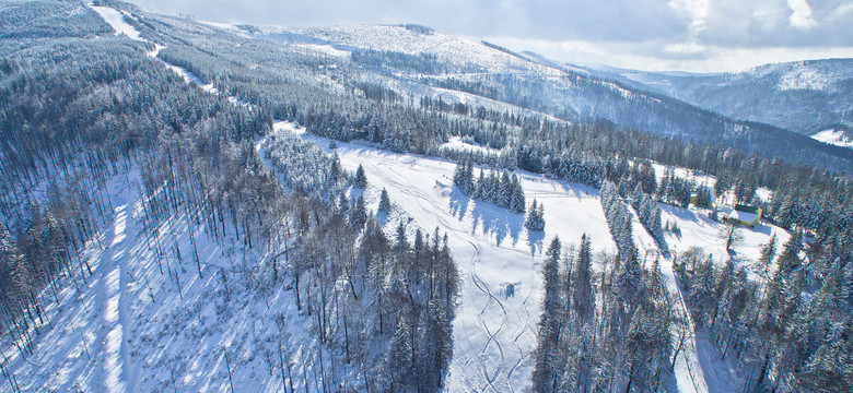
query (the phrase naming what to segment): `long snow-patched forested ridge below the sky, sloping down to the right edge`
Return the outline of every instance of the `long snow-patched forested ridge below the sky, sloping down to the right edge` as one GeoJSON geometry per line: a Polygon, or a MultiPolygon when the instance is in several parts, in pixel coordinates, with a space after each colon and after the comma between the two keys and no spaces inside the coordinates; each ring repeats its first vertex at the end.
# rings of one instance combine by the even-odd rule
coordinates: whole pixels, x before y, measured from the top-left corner
{"type": "MultiPolygon", "coordinates": [[[[722,102],[709,108],[693,100],[680,100],[681,96],[671,90],[661,92],[607,75],[599,78],[581,68],[535,55],[516,53],[487,41],[444,35],[424,26],[292,28],[243,25],[239,31],[233,31],[291,48],[323,51],[340,61],[349,59],[390,78],[394,83],[386,83],[387,86],[416,98],[425,94],[443,97],[449,104],[500,102],[563,120],[610,121],[618,128],[686,141],[716,142],[750,153],[779,155],[791,162],[828,165],[834,169],[849,168],[853,158],[851,152],[843,148],[810,141],[784,127],[757,122],[763,117],[736,116],[740,114],[722,110],[722,102]],[[729,114],[732,118],[726,117],[729,114]]],[[[720,97],[724,99],[723,95],[720,97]]],[[[823,98],[827,105],[836,102],[831,97],[823,98]]],[[[815,103],[809,104],[820,102],[821,98],[816,97],[815,103]]],[[[764,110],[763,105],[772,104],[753,102],[749,108],[764,110]]],[[[729,109],[736,107],[740,106],[733,105],[729,109]]],[[[822,108],[820,105],[806,107],[822,108]]],[[[766,110],[783,109],[776,106],[766,110]]]]}

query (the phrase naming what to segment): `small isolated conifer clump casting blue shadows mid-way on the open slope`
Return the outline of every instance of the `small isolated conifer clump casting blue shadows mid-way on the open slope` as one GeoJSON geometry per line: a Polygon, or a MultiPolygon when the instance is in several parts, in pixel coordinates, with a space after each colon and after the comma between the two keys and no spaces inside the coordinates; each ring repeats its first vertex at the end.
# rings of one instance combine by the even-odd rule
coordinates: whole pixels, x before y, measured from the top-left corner
{"type": "Polygon", "coordinates": [[[487,202],[492,202],[501,207],[511,210],[513,213],[524,213],[525,200],[524,189],[518,180],[518,176],[504,170],[500,176],[496,171],[486,171],[481,168],[480,176],[474,178],[474,166],[470,162],[460,162],[456,165],[456,171],[453,175],[453,183],[466,195],[487,202]]]}

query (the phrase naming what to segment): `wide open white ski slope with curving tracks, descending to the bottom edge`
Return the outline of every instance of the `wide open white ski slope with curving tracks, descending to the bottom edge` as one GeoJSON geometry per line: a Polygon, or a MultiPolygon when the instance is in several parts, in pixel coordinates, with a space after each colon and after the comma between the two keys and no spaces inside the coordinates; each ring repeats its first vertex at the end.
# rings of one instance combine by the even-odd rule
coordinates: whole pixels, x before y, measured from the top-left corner
{"type": "MultiPolygon", "coordinates": [[[[328,140],[280,122],[328,150],[328,140]]],[[[541,311],[542,249],[554,236],[563,246],[586,233],[594,252],[615,252],[598,191],[584,186],[522,174],[529,201],[545,206],[546,229],[529,233],[524,215],[477,201],[453,186],[454,163],[395,154],[353,143],[338,143],[344,168],[364,167],[374,195],[385,188],[418,226],[447,231],[463,281],[454,321],[454,355],[447,392],[522,392],[530,388],[531,352],[541,311]],[[521,283],[514,297],[502,284],[521,283]]],[[[329,151],[330,152],[330,151],[329,151]]],[[[374,204],[378,201],[374,198],[374,204]]],[[[372,205],[374,209],[375,205],[372,205]]]]}

